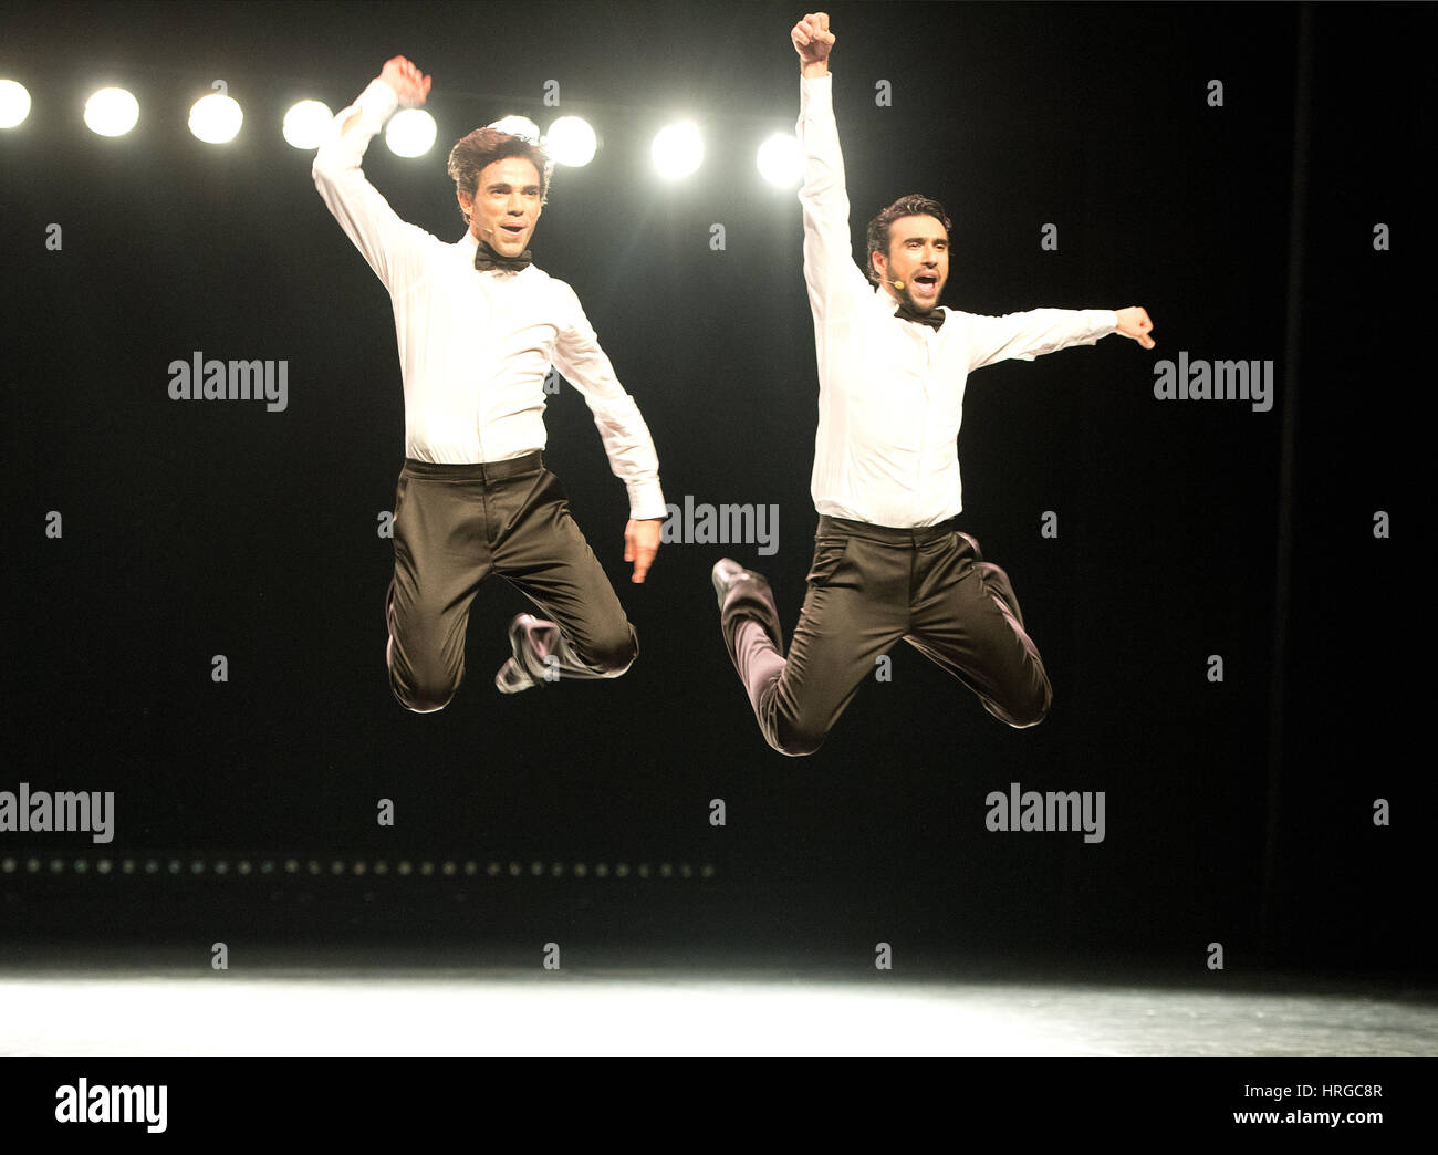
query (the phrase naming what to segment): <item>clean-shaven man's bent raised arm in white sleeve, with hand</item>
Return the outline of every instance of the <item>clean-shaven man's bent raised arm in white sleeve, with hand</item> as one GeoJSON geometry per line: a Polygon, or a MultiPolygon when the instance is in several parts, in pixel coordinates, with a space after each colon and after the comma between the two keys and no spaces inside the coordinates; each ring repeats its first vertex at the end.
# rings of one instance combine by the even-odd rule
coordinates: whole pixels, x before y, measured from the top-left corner
{"type": "Polygon", "coordinates": [[[400,220],[360,164],[370,141],[397,108],[424,104],[430,82],[403,56],[385,62],[360,99],[335,117],[311,167],[325,206],[391,293],[417,268],[418,255],[434,237],[400,220]]]}

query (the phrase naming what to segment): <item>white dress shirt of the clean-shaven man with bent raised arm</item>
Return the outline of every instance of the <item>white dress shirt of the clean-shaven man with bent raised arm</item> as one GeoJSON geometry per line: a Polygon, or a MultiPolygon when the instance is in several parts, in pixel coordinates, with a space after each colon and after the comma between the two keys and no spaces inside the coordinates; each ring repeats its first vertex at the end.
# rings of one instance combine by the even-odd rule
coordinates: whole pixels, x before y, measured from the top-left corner
{"type": "Polygon", "coordinates": [[[649,427],[574,289],[533,265],[475,269],[472,233],[449,245],[400,220],[365,178],[365,148],[397,106],[394,89],[371,82],[335,117],[312,171],[394,303],[406,456],[459,465],[544,449],[544,381],[554,364],[588,403],[610,467],[628,488],[630,516],[666,516],[649,427]]]}

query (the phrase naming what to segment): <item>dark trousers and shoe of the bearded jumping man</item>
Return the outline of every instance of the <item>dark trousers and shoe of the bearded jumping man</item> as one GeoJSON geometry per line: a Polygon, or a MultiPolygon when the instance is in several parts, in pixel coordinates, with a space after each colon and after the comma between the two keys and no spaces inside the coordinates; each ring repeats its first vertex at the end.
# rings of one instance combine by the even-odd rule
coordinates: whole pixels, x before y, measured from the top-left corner
{"type": "Polygon", "coordinates": [[[768,583],[736,583],[720,620],[759,729],[781,754],[818,749],[899,639],[1011,726],[1037,725],[1053,702],[1008,577],[952,522],[890,529],[820,518],[788,659],[768,583]]]}

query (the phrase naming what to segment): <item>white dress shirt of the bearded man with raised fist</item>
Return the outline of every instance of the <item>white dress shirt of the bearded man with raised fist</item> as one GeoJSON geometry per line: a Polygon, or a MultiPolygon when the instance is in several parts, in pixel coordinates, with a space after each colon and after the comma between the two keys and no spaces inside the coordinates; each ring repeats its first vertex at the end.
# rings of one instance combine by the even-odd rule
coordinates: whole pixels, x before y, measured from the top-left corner
{"type": "Polygon", "coordinates": [[[896,318],[899,302],[869,282],[850,249],[833,78],[800,83],[804,280],[818,354],[814,506],[870,525],[935,525],[963,509],[958,439],[969,373],[1093,345],[1119,318],[1113,309],[978,316],[945,308],[940,329],[896,318]]]}

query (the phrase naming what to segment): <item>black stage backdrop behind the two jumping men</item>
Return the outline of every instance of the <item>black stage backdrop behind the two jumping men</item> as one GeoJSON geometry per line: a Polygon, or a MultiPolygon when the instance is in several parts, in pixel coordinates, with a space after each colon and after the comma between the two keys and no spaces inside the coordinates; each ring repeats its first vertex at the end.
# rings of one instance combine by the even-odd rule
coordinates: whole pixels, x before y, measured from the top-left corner
{"type": "Polygon", "coordinates": [[[709,568],[729,552],[768,572],[792,626],[815,522],[812,328],[798,204],[752,155],[792,128],[801,14],[7,10],[0,75],[35,109],[0,132],[0,790],[116,795],[108,846],[0,831],[9,958],[171,944],[203,965],[224,939],[236,961],[338,944],[538,964],[557,941],[567,964],[871,971],[886,941],[903,968],[1199,974],[1221,942],[1229,972],[1422,965],[1425,646],[1398,554],[1422,516],[1432,9],[833,6],[856,239],[922,190],[955,220],[945,303],[1140,303],[1159,347],[1110,338],[969,381],[966,525],[1014,578],[1048,721],[1009,731],[900,647],[820,754],[785,759],[723,652],[709,568]],[[536,259],[574,285],[637,398],[667,499],[779,508],[777,555],[669,545],[631,585],[623,486],[582,400],[552,400],[548,460],[640,636],[618,682],[498,695],[526,604],[492,583],[449,709],[390,696],[390,305],[279,121],[303,96],[342,108],[397,53],[434,75],[440,138],[417,161],[377,140],[365,168],[441,237],[463,229],[454,138],[515,111],[598,125],[595,163],[555,180],[536,259]],[[216,78],[246,109],[219,148],[184,128],[216,78]],[[81,124],[102,82],[141,101],[128,137],[81,124]],[[709,155],[670,186],[647,151],[679,112],[709,155]],[[1181,350],[1271,360],[1273,410],[1156,400],[1153,362],[1181,350]],[[167,365],[194,351],[288,361],[288,408],[171,401],[167,365]],[[1012,781],[1104,791],[1104,841],[985,830],[985,795],[1012,781]]]}

